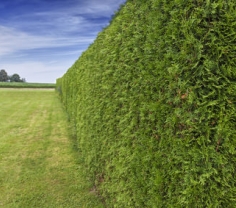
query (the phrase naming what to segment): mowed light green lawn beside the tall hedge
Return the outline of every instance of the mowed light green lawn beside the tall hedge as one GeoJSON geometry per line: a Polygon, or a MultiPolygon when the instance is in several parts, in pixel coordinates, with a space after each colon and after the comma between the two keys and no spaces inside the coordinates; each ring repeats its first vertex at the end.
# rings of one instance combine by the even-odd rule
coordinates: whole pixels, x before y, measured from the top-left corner
{"type": "Polygon", "coordinates": [[[54,90],[0,89],[0,207],[103,207],[54,90]]]}

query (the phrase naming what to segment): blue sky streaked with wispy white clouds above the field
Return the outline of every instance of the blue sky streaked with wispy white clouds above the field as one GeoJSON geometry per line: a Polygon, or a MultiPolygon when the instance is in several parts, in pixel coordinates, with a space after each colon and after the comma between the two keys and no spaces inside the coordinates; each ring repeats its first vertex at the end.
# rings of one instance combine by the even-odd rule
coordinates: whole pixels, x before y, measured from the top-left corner
{"type": "Polygon", "coordinates": [[[0,0],[0,69],[54,83],[125,0],[0,0]]]}

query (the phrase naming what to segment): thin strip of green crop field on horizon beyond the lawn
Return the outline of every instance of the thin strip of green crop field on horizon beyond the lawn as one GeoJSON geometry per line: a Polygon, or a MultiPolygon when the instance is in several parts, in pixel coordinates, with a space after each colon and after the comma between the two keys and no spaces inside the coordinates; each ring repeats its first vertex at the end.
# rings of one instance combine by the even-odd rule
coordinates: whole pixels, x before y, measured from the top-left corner
{"type": "Polygon", "coordinates": [[[0,88],[55,88],[53,83],[0,82],[0,88]]]}

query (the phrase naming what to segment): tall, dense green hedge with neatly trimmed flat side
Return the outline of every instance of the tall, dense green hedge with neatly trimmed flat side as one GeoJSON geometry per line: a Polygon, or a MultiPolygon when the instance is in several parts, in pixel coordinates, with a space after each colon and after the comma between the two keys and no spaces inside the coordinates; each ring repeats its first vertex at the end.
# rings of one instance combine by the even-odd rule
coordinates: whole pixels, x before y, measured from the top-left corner
{"type": "Polygon", "coordinates": [[[236,206],[234,0],[128,0],[57,89],[107,207],[236,206]]]}

